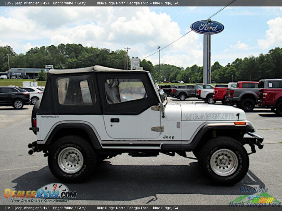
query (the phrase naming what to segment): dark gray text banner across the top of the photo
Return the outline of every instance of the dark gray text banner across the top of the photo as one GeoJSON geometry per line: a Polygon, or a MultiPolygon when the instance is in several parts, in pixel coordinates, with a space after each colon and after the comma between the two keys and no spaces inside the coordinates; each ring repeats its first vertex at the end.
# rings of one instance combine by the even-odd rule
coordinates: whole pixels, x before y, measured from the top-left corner
{"type": "MultiPolygon", "coordinates": [[[[226,6],[231,0],[0,0],[0,6],[226,6]]],[[[282,6],[281,0],[236,0],[230,6],[282,6]]]]}

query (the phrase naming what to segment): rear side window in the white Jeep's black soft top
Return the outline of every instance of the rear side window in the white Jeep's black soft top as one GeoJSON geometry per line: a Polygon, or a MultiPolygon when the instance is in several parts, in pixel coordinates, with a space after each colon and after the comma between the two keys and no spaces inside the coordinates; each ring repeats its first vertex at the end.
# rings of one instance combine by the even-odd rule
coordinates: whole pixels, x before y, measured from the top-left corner
{"type": "Polygon", "coordinates": [[[96,103],[91,96],[88,81],[91,76],[67,76],[57,79],[58,103],[64,106],[89,106],[96,103]]]}

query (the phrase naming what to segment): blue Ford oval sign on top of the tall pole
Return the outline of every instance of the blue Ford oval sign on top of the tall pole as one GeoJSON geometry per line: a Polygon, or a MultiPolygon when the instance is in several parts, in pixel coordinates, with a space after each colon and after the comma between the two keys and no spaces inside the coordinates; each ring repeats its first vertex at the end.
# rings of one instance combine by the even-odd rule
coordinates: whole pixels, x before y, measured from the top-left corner
{"type": "Polygon", "coordinates": [[[224,26],[216,21],[197,21],[191,24],[191,29],[200,34],[217,34],[224,30],[224,26]]]}

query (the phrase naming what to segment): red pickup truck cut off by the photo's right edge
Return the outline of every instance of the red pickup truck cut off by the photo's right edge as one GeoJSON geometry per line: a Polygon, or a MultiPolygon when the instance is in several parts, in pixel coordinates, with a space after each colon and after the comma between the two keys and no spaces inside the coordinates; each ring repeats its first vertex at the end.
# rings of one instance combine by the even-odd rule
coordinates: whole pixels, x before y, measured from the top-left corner
{"type": "Polygon", "coordinates": [[[259,106],[271,108],[282,116],[282,79],[264,79],[259,81],[259,106]]]}

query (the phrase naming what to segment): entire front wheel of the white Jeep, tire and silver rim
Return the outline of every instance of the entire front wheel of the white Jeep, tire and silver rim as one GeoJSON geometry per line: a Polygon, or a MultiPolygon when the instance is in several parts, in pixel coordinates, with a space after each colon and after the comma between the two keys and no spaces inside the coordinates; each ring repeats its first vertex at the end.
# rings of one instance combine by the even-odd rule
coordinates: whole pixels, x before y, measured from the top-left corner
{"type": "Polygon", "coordinates": [[[232,186],[246,175],[249,156],[236,139],[219,136],[204,144],[198,164],[202,174],[214,185],[232,186]]]}

